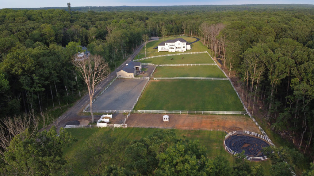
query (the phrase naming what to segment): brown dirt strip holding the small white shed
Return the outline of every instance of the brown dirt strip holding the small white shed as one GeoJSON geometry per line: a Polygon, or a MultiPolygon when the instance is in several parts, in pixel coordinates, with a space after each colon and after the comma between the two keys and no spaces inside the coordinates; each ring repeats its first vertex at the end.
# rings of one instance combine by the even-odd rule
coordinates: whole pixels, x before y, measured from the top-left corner
{"type": "Polygon", "coordinates": [[[191,115],[191,114],[131,114],[126,121],[128,127],[187,127],[220,129],[226,132],[246,130],[261,134],[255,123],[247,115],[191,115]],[[169,122],[163,122],[163,116],[169,122]]]}

